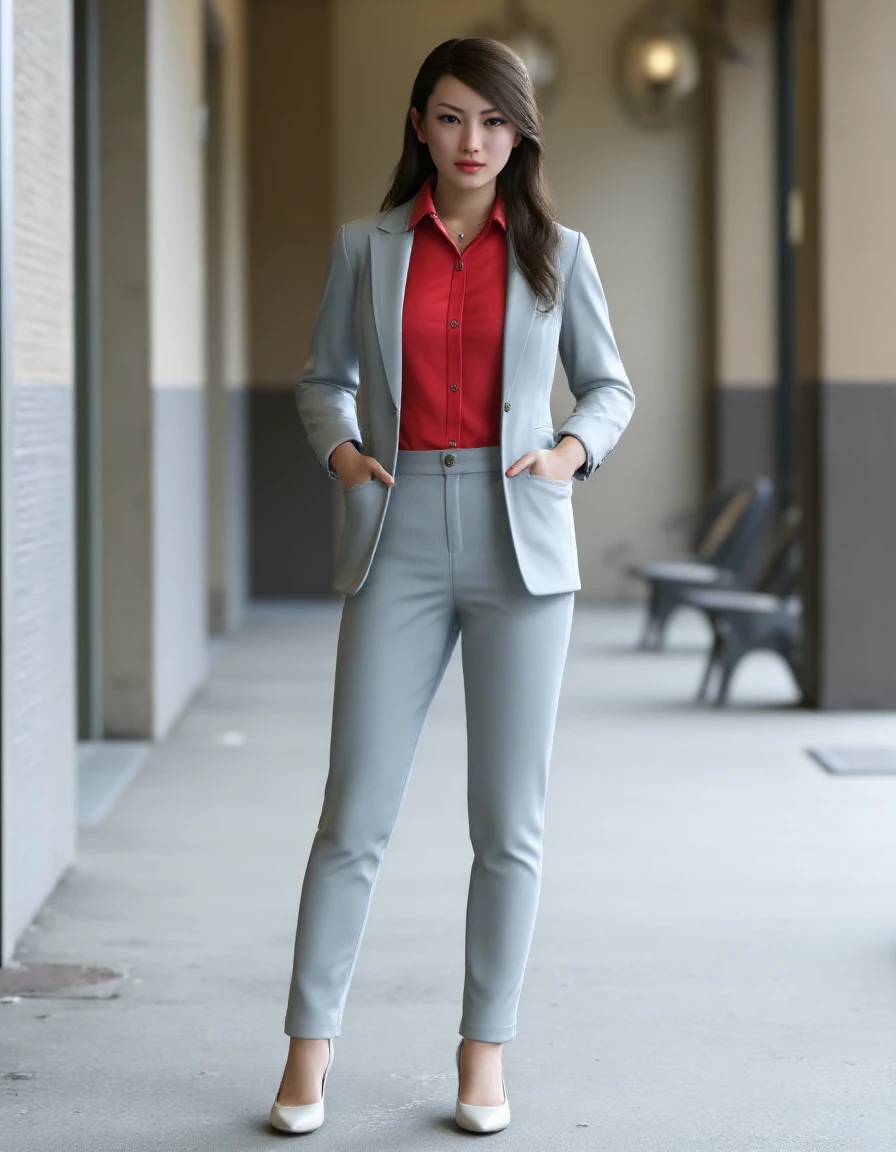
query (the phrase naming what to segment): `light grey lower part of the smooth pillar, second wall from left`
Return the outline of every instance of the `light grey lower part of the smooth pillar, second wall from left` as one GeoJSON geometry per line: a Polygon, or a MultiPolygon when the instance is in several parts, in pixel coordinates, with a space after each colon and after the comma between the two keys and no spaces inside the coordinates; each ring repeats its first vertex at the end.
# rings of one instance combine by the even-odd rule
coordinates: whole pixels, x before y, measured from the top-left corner
{"type": "Polygon", "coordinates": [[[153,735],[161,738],[205,679],[205,393],[153,389],[153,735]]]}

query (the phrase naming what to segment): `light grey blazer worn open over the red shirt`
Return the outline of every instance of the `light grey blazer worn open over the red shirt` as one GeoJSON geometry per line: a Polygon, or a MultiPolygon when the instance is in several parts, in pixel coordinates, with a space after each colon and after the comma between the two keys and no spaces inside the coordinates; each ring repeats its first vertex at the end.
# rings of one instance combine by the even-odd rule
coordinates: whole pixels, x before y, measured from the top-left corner
{"type": "MultiPolygon", "coordinates": [[[[398,453],[402,386],[402,305],[413,232],[412,202],[354,220],[339,230],[329,257],[311,351],[296,385],[296,404],[324,470],[334,448],[354,440],[393,476],[398,453]]],[[[537,309],[508,234],[501,460],[553,448],[564,435],[585,447],[575,473],[584,480],[616,445],[635,410],[603,289],[589,242],[560,228],[562,305],[537,309]],[[550,416],[557,350],[576,397],[560,429],[550,416]]],[[[582,588],[572,522],[572,482],[504,476],[510,530],[523,581],[536,596],[582,588]]],[[[372,480],[344,491],[346,520],[334,588],[354,594],[370,571],[392,488],[372,480]]]]}

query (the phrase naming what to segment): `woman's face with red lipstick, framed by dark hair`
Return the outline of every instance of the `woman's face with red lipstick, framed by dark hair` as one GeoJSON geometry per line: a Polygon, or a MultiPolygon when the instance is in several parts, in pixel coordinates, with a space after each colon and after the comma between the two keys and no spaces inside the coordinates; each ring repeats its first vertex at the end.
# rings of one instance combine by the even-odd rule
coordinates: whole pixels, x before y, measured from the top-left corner
{"type": "Polygon", "coordinates": [[[442,76],[433,89],[425,115],[411,108],[417,138],[430,145],[439,183],[471,190],[496,179],[523,138],[500,108],[462,84],[442,76]],[[464,160],[473,162],[458,167],[464,160]]]}

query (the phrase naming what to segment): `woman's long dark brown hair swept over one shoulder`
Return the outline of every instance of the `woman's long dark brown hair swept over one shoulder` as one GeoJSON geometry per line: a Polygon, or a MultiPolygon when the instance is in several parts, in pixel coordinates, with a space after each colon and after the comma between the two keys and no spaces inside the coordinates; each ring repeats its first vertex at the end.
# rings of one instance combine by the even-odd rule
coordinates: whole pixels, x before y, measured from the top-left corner
{"type": "Polygon", "coordinates": [[[417,139],[410,109],[417,108],[422,116],[426,114],[430,97],[442,76],[456,76],[500,108],[523,137],[499,173],[498,187],[504,198],[507,226],[519,268],[549,310],[560,298],[560,233],[554,223],[554,197],[545,175],[541,112],[523,61],[500,40],[487,37],[446,40],[424,60],[411,90],[401,159],[380,211],[413,199],[435,172],[428,145],[417,139]]]}

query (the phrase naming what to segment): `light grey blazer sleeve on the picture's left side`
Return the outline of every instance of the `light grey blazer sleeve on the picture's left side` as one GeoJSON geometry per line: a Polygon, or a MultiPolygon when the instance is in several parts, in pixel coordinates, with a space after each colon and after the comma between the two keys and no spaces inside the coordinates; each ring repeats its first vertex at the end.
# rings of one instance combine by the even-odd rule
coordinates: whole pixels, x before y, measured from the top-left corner
{"type": "Polygon", "coordinates": [[[355,272],[346,245],[346,225],[329,253],[311,350],[296,384],[296,407],[309,444],[324,471],[336,479],[331,454],[347,440],[360,450],[355,396],[358,350],[355,340],[355,272]]]}

